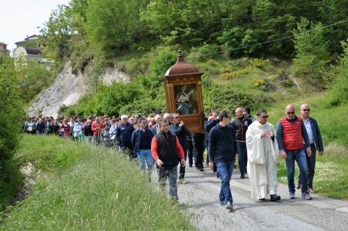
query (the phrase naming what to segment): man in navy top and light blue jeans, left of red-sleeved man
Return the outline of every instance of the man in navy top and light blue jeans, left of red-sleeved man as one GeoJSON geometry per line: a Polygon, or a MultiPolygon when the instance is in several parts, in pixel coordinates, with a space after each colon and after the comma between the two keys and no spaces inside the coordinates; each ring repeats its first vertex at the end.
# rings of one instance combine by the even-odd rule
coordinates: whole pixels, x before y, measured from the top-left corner
{"type": "MultiPolygon", "coordinates": [[[[145,162],[148,164],[148,173],[153,169],[153,158],[151,155],[152,132],[146,126],[146,119],[141,117],[138,120],[139,128],[132,134],[132,146],[134,153],[138,157],[141,170],[145,170],[145,162]]],[[[151,179],[151,178],[150,178],[151,179]]]]}

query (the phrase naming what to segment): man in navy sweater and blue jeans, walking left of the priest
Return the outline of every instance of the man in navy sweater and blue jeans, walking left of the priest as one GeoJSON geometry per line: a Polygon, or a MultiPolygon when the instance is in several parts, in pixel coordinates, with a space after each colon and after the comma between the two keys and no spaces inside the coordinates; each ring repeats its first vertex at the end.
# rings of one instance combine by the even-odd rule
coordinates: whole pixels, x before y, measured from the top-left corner
{"type": "Polygon", "coordinates": [[[237,140],[235,129],[230,126],[231,112],[222,110],[219,114],[219,121],[219,124],[209,132],[209,168],[213,169],[213,162],[216,163],[221,178],[220,205],[226,205],[226,209],[232,210],[230,180],[238,157],[237,140]]]}

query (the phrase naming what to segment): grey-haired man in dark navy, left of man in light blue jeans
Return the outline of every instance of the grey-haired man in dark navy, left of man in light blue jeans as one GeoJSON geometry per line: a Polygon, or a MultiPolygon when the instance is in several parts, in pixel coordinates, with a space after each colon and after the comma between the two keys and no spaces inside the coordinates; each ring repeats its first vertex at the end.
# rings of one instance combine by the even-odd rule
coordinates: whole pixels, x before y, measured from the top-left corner
{"type": "Polygon", "coordinates": [[[121,116],[121,122],[115,129],[115,139],[118,142],[118,148],[127,149],[129,151],[129,157],[136,158],[132,146],[132,134],[134,132],[134,126],[127,121],[127,115],[121,116]]]}

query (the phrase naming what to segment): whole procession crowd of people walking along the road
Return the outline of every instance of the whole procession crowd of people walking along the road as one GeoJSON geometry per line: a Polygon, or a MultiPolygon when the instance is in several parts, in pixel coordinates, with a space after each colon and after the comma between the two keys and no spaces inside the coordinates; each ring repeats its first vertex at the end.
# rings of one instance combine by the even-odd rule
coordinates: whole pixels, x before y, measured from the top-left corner
{"type": "Polygon", "coordinates": [[[250,114],[250,108],[237,108],[236,119],[232,119],[229,110],[219,114],[211,108],[204,122],[205,132],[192,133],[187,129],[179,113],[164,114],[157,110],[155,115],[132,114],[121,117],[90,115],[89,117],[63,116],[33,117],[26,121],[24,132],[32,135],[59,135],[77,142],[104,145],[125,150],[130,158],[138,158],[141,171],[147,171],[148,180],[152,169],[157,167],[159,185],[166,187],[169,181],[169,193],[177,203],[177,169],[182,185],[187,157],[189,167],[204,171],[207,164],[216,178],[221,179],[219,193],[220,205],[233,209],[230,180],[238,160],[240,178],[251,181],[251,198],[276,202],[277,163],[279,151],[287,166],[289,198],[295,198],[295,187],[300,189],[301,197],[310,200],[315,173],[315,155],[323,155],[324,147],[317,121],[309,117],[309,105],[301,105],[301,116],[295,115],[294,105],[287,105],[285,117],[280,118],[277,129],[267,122],[266,110],[260,109],[256,117],[250,114]],[[203,153],[207,148],[207,159],[203,153]],[[294,161],[299,166],[299,176],[294,184],[294,161]]]}

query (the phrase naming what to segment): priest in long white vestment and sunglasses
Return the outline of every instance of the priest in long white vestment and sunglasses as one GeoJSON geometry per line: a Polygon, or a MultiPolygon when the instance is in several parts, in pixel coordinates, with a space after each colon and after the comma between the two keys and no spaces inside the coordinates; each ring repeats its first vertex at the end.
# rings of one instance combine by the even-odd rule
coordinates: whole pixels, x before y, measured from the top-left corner
{"type": "Polygon", "coordinates": [[[256,113],[258,120],[246,130],[246,148],[248,150],[248,178],[251,182],[251,198],[264,200],[269,193],[271,201],[280,200],[277,196],[277,163],[279,150],[276,130],[267,122],[266,110],[256,113]]]}

